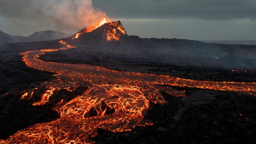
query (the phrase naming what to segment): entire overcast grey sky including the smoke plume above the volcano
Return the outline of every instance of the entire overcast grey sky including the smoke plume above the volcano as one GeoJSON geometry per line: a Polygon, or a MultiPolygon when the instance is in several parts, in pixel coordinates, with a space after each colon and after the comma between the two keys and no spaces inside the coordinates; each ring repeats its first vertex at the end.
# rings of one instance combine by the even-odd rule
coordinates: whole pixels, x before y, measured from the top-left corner
{"type": "Polygon", "coordinates": [[[256,0],[38,1],[0,0],[0,30],[23,36],[48,29],[75,33],[93,23],[89,19],[107,15],[143,38],[256,40],[256,0]]]}

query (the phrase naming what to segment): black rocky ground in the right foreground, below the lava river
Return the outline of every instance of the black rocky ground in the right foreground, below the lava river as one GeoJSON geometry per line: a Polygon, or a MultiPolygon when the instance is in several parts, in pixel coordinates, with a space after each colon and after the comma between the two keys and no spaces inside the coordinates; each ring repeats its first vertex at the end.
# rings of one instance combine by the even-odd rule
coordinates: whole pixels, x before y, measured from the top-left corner
{"type": "Polygon", "coordinates": [[[147,119],[153,126],[132,132],[98,130],[96,143],[253,144],[255,98],[232,92],[191,89],[185,98],[163,94],[168,103],[154,105],[147,119]]]}

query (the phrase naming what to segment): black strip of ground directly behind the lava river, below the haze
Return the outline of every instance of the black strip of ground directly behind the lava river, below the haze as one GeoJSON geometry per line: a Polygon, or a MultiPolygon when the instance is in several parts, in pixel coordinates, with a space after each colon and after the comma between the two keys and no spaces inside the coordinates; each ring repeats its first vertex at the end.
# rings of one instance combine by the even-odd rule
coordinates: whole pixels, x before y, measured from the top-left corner
{"type": "MultiPolygon", "coordinates": [[[[143,56],[142,56],[143,57],[143,56]]],[[[119,71],[154,73],[198,81],[254,82],[256,72],[232,72],[231,69],[196,66],[177,66],[152,62],[151,59],[128,59],[104,50],[77,47],[41,55],[40,60],[56,63],[91,64],[119,71]]],[[[200,62],[199,62],[200,63],[200,62]]]]}

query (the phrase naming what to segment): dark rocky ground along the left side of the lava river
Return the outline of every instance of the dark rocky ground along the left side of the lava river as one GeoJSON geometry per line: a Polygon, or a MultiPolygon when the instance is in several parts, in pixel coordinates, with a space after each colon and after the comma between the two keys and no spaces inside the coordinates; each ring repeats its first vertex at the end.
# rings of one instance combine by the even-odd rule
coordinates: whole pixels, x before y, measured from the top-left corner
{"type": "MultiPolygon", "coordinates": [[[[54,42],[31,42],[1,45],[0,48],[0,138],[18,130],[58,116],[50,106],[33,107],[31,101],[20,101],[20,91],[54,79],[53,73],[28,68],[18,53],[42,48],[58,48],[54,42]]],[[[37,98],[38,99],[38,98],[37,98]]]]}

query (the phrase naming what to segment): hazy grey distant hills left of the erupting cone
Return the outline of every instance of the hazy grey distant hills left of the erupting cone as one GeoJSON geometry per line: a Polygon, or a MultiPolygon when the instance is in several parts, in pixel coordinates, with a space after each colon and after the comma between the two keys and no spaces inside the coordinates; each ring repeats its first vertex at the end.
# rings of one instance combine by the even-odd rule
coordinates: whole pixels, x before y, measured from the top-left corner
{"type": "Polygon", "coordinates": [[[71,37],[73,34],[62,33],[58,31],[39,31],[35,32],[28,37],[12,36],[0,30],[0,45],[18,42],[33,42],[33,41],[51,41],[71,37]]]}

